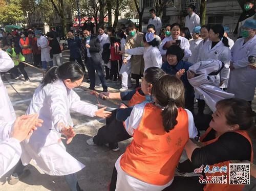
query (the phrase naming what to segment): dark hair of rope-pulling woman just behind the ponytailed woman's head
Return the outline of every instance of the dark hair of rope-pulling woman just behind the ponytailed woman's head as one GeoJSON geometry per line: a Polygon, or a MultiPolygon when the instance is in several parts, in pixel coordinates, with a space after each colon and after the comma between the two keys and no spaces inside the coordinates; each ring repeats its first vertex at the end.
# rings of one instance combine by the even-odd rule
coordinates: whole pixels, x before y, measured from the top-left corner
{"type": "Polygon", "coordinates": [[[159,67],[149,67],[145,70],[144,79],[147,83],[151,83],[153,86],[155,83],[165,74],[165,72],[159,67]]]}

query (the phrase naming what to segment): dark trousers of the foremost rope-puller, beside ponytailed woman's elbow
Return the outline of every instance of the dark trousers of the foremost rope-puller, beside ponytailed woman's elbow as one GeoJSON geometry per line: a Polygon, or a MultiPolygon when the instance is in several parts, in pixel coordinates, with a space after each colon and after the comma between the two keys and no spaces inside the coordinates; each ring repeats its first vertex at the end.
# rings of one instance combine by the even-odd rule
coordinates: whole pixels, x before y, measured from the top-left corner
{"type": "Polygon", "coordinates": [[[101,146],[109,144],[110,149],[118,147],[118,142],[131,138],[123,126],[123,122],[116,120],[116,109],[112,111],[110,118],[106,119],[106,125],[98,130],[96,136],[93,137],[95,144],[101,146]]]}

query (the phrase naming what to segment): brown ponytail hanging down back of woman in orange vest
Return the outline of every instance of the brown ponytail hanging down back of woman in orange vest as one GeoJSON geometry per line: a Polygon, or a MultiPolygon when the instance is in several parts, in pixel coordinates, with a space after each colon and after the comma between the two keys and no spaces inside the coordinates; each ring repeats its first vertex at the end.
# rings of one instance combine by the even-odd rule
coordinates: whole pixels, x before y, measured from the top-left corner
{"type": "Polygon", "coordinates": [[[174,99],[170,99],[161,115],[163,117],[164,130],[169,132],[169,130],[172,130],[178,123],[176,120],[178,116],[178,107],[174,99]]]}

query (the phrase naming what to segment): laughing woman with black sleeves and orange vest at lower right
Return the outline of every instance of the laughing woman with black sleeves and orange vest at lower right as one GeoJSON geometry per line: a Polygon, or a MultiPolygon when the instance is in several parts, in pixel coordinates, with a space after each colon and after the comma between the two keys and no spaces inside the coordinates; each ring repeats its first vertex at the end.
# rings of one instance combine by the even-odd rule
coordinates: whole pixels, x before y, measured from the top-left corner
{"type": "MultiPolygon", "coordinates": [[[[188,140],[185,151],[194,169],[201,166],[202,176],[187,182],[190,177],[175,177],[173,185],[165,190],[210,190],[210,191],[240,191],[244,185],[229,184],[229,163],[239,163],[242,160],[253,160],[251,139],[247,129],[253,126],[253,112],[250,104],[238,98],[225,99],[217,102],[217,110],[212,114],[212,120],[205,134],[200,138],[203,147],[199,148],[188,140]],[[237,160],[237,161],[233,161],[237,160]],[[202,166],[203,165],[203,166],[202,166]],[[215,166],[215,167],[214,167],[215,166]],[[222,166],[226,171],[219,172],[222,166]],[[207,183],[202,188],[199,180],[212,179],[226,175],[226,183],[207,183]],[[208,178],[207,178],[208,176],[208,178]],[[184,184],[184,182],[187,182],[184,184]],[[200,189],[201,188],[201,189],[200,189]]],[[[203,181],[201,181],[203,182],[203,181]]],[[[235,182],[234,182],[235,183],[235,182]]]]}

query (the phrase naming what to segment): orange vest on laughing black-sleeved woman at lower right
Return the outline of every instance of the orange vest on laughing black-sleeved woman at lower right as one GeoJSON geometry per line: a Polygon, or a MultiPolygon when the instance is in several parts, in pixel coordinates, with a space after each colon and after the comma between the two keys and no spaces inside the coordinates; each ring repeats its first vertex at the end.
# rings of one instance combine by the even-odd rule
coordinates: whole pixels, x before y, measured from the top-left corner
{"type": "MultiPolygon", "coordinates": [[[[200,137],[200,141],[202,141],[206,136],[207,134],[212,130],[212,128],[208,128],[205,132],[205,134],[200,137]]],[[[239,133],[241,135],[243,135],[245,138],[247,138],[247,140],[250,142],[250,145],[251,145],[251,162],[253,161],[253,150],[252,150],[252,142],[251,142],[251,139],[248,135],[248,133],[246,131],[242,131],[242,130],[239,130],[239,131],[236,131],[236,133],[239,133]]],[[[205,141],[202,143],[206,146],[206,145],[209,145],[209,144],[212,144],[213,142],[217,141],[219,137],[216,137],[215,139],[212,139],[212,140],[208,140],[208,141],[205,141]]],[[[221,166],[224,166],[226,165],[227,166],[227,173],[221,173],[221,172],[216,172],[214,174],[209,174],[209,173],[205,173],[205,176],[222,176],[222,175],[227,175],[227,184],[206,184],[204,186],[204,190],[205,191],[220,191],[220,190],[225,190],[225,191],[242,191],[243,188],[244,188],[244,185],[241,185],[241,184],[228,184],[228,180],[229,180],[229,176],[228,176],[228,164],[229,163],[232,163],[231,161],[224,161],[224,162],[220,162],[218,164],[214,164],[214,165],[209,165],[210,166],[210,169],[212,169],[213,166],[219,166],[219,168],[221,168],[221,166]]]]}

